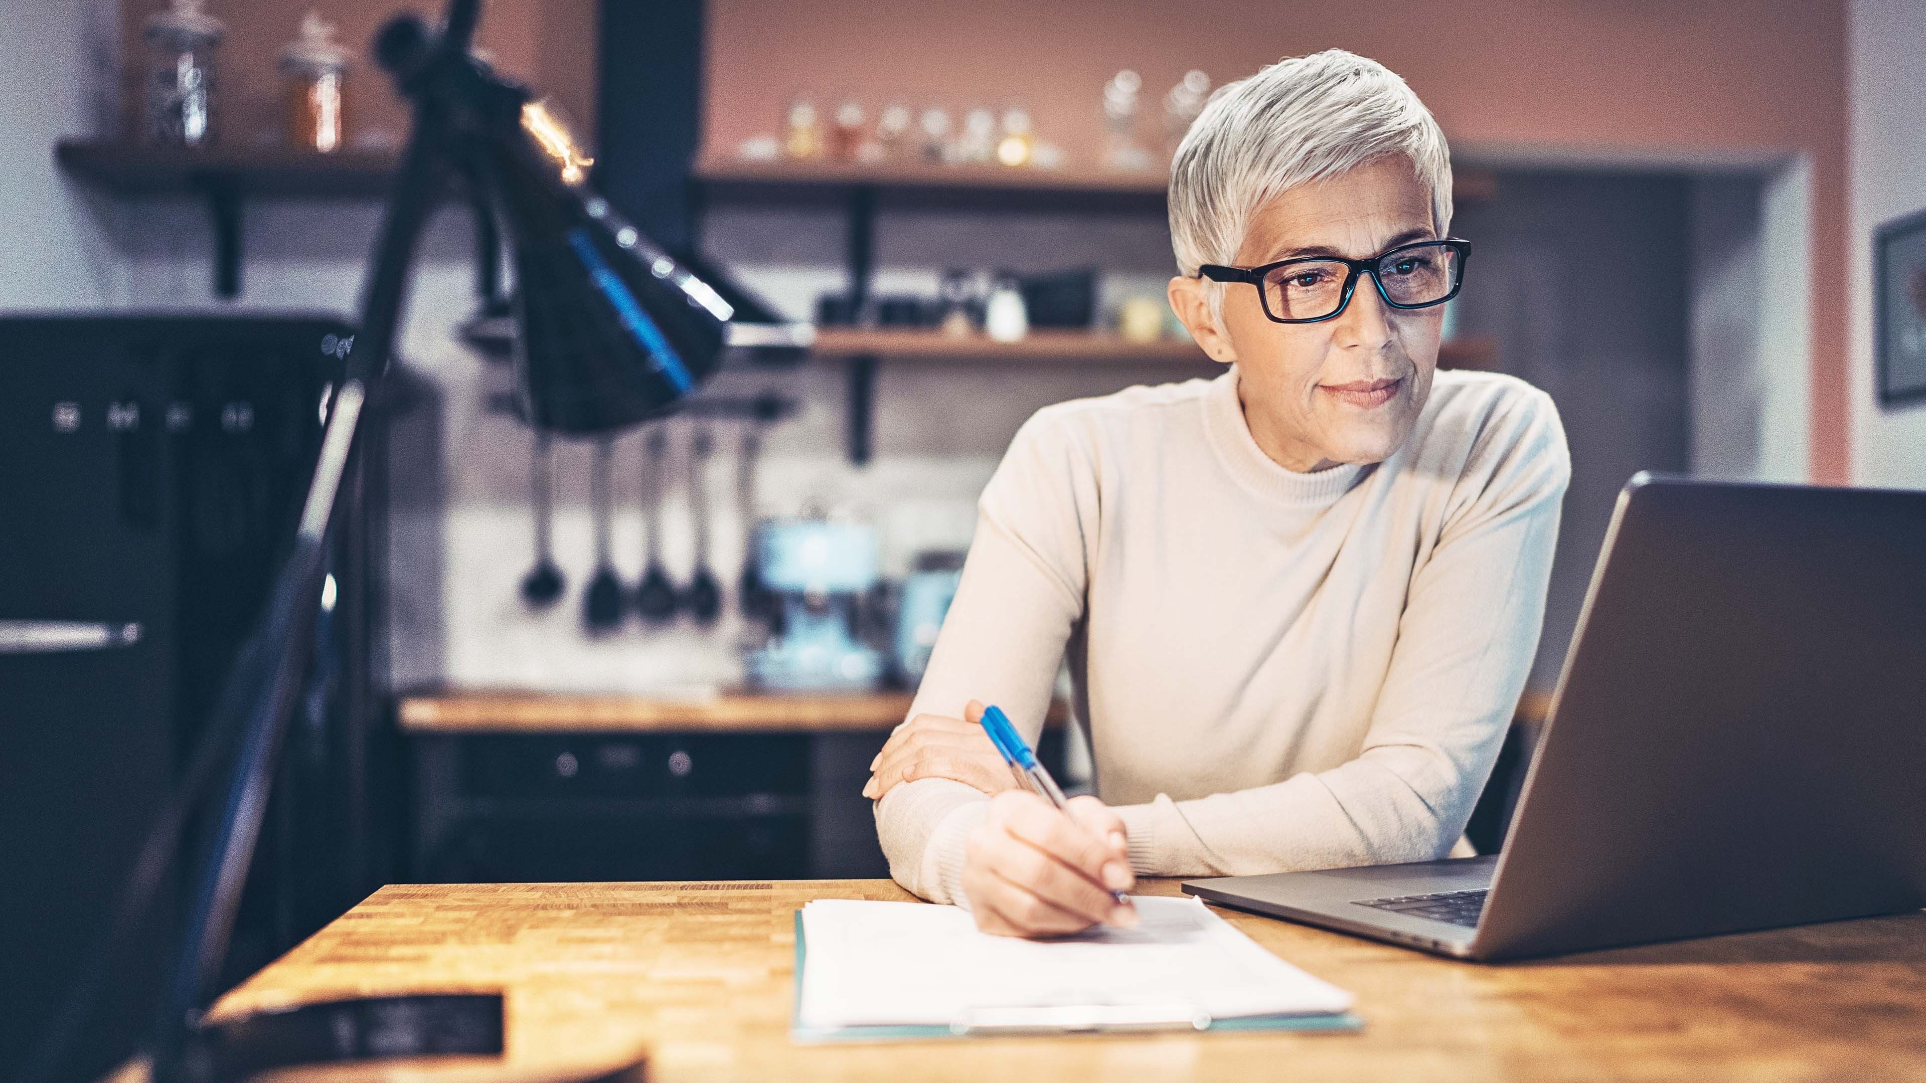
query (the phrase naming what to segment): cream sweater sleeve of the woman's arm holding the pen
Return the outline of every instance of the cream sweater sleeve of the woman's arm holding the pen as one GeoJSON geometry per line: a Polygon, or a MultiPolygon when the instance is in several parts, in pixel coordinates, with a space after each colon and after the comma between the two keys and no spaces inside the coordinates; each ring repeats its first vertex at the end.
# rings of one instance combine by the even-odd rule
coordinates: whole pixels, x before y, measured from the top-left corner
{"type": "MultiPolygon", "coordinates": [[[[1030,418],[976,505],[963,580],[917,686],[909,717],[963,717],[971,700],[1003,707],[1032,746],[1055,690],[1088,582],[1096,480],[1057,410],[1030,418]]],[[[890,875],[930,902],[967,906],[963,842],[988,798],[950,779],[919,779],[876,802],[890,875]]]]}

